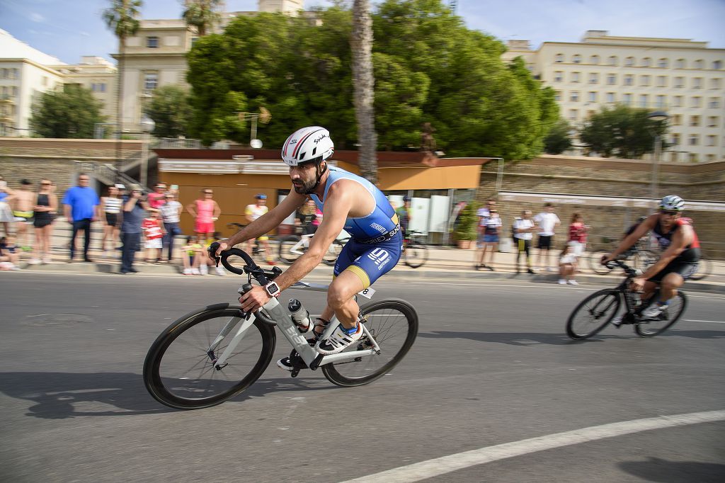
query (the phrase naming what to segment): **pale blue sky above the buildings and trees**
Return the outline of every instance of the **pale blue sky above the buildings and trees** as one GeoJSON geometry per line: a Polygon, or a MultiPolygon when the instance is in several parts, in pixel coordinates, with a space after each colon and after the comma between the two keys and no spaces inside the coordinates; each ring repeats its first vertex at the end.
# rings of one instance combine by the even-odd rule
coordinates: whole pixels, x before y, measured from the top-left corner
{"type": "MultiPolygon", "coordinates": [[[[444,0],[447,3],[447,0],[444,0]]],[[[83,55],[113,59],[117,39],[101,20],[109,0],[0,0],[0,28],[67,64],[83,55]]],[[[373,0],[373,4],[378,3],[373,0]]],[[[181,17],[181,0],[144,0],[141,17],[181,17]]],[[[305,7],[331,4],[305,0],[305,7]]],[[[254,11],[257,0],[227,0],[226,9],[254,11]]],[[[725,0],[458,0],[468,28],[501,41],[578,42],[587,30],[611,36],[689,38],[725,49],[725,0]]],[[[0,52],[0,57],[3,57],[0,52]]]]}

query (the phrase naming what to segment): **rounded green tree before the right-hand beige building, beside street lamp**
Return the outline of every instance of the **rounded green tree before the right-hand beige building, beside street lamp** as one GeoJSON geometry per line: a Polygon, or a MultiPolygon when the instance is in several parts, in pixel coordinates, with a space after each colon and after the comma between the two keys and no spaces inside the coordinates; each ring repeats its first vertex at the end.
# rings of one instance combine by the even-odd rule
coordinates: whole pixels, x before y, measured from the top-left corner
{"type": "Polygon", "coordinates": [[[667,132],[666,121],[653,121],[650,111],[617,104],[587,120],[579,133],[582,144],[602,157],[639,159],[653,152],[655,136],[667,132]]]}

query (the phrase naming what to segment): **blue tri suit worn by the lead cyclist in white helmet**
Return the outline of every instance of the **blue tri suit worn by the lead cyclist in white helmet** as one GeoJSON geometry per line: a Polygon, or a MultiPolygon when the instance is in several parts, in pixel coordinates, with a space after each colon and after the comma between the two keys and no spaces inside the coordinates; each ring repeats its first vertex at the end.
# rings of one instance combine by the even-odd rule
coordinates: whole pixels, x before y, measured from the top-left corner
{"type": "Polygon", "coordinates": [[[327,191],[341,179],[360,183],[375,199],[375,208],[368,215],[345,220],[345,231],[350,234],[351,239],[337,257],[334,269],[335,276],[344,270],[355,273],[367,288],[384,273],[388,273],[400,260],[402,234],[398,215],[383,192],[370,181],[340,168],[331,166],[328,170],[330,174],[322,199],[316,194],[310,195],[323,212],[327,191]]]}

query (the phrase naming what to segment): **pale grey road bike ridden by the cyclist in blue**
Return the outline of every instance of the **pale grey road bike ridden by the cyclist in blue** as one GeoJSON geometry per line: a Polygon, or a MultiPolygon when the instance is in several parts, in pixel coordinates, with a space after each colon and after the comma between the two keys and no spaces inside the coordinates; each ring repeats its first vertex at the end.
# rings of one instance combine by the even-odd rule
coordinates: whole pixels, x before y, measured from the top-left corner
{"type": "MultiPolygon", "coordinates": [[[[209,248],[215,253],[218,244],[209,248]]],[[[220,261],[231,273],[247,274],[239,293],[252,289],[252,281],[266,285],[281,269],[268,271],[238,248],[222,252],[220,261]],[[244,265],[228,258],[241,257],[244,265]]],[[[328,286],[300,281],[294,289],[326,292],[328,286]]],[[[360,296],[372,297],[368,288],[360,296]]],[[[312,316],[311,316],[312,317],[312,316]]],[[[207,305],[183,315],[157,337],[144,361],[144,384],[155,400],[176,409],[218,405],[243,392],[256,381],[273,359],[277,327],[293,350],[291,376],[309,368],[341,387],[368,384],[389,373],[405,357],[418,334],[418,314],[404,300],[386,299],[360,307],[363,337],[343,352],[321,355],[297,329],[287,305],[276,297],[255,313],[245,313],[228,302],[207,305]]],[[[326,326],[323,338],[337,326],[326,326]]]]}

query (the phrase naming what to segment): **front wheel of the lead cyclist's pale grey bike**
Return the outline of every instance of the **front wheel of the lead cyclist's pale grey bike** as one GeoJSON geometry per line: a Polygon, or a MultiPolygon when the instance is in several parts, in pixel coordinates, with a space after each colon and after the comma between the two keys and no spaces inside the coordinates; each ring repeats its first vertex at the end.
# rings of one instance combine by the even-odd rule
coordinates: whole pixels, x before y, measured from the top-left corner
{"type": "MultiPolygon", "coordinates": [[[[272,360],[276,335],[260,321],[249,327],[220,370],[207,354],[225,324],[239,313],[239,308],[226,304],[210,306],[183,316],[159,335],[144,362],[144,384],[155,400],[177,409],[208,408],[244,391],[262,375],[272,360]]],[[[227,347],[236,327],[215,356],[227,347]]]]}

